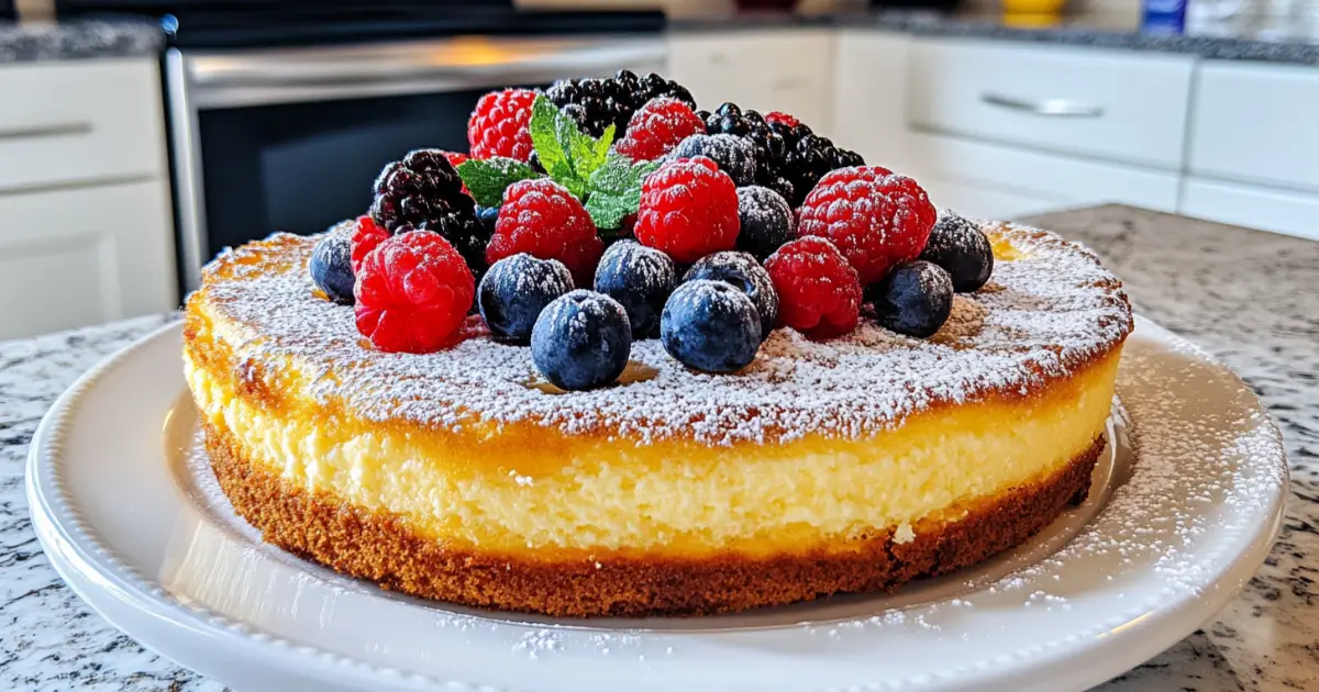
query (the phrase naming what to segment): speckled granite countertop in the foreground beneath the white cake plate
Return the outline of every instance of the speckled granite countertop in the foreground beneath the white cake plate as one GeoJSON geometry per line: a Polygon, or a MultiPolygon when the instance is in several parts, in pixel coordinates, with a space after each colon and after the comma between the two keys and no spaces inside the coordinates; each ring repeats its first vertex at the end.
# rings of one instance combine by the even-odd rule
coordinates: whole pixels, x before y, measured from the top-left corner
{"type": "MultiPolygon", "coordinates": [[[[1137,311],[1231,365],[1273,413],[1293,464],[1282,535],[1245,591],[1204,629],[1099,689],[1319,689],[1319,243],[1117,206],[1029,221],[1095,248],[1137,311]]],[[[142,650],[65,587],[22,489],[28,443],[54,398],[170,319],[0,344],[0,689],[220,689],[142,650]]]]}

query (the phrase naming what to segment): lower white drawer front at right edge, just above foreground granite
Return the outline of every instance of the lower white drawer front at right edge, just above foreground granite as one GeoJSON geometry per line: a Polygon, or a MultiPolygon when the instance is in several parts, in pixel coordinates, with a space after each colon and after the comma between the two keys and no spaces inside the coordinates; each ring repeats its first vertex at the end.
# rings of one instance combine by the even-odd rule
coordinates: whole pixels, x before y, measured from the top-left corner
{"type": "Polygon", "coordinates": [[[1319,240],[1319,194],[1187,178],[1179,211],[1211,221],[1319,240]]]}

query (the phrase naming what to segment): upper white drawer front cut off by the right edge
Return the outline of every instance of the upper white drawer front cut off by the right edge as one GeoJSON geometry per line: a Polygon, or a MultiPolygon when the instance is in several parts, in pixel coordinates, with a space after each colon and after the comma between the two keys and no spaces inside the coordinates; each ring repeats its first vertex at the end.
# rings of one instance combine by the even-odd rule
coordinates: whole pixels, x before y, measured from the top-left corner
{"type": "Polygon", "coordinates": [[[1319,71],[1207,65],[1191,120],[1192,173],[1319,190],[1319,71]]]}

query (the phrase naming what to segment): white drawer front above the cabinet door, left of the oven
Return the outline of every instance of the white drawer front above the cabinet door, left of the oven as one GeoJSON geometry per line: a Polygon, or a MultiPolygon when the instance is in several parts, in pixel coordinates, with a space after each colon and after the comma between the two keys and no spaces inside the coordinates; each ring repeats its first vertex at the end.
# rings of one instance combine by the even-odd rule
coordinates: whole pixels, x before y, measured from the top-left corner
{"type": "Polygon", "coordinates": [[[0,66],[0,190],[165,170],[152,58],[0,66]]]}

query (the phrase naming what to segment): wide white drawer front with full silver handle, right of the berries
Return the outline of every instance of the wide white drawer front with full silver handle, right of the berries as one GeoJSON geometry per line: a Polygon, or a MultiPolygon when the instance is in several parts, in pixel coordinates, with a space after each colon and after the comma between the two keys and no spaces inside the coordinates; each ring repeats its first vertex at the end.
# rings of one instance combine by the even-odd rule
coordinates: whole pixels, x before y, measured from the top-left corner
{"type": "Polygon", "coordinates": [[[909,119],[925,129],[1182,167],[1191,58],[922,40],[909,119]]]}

